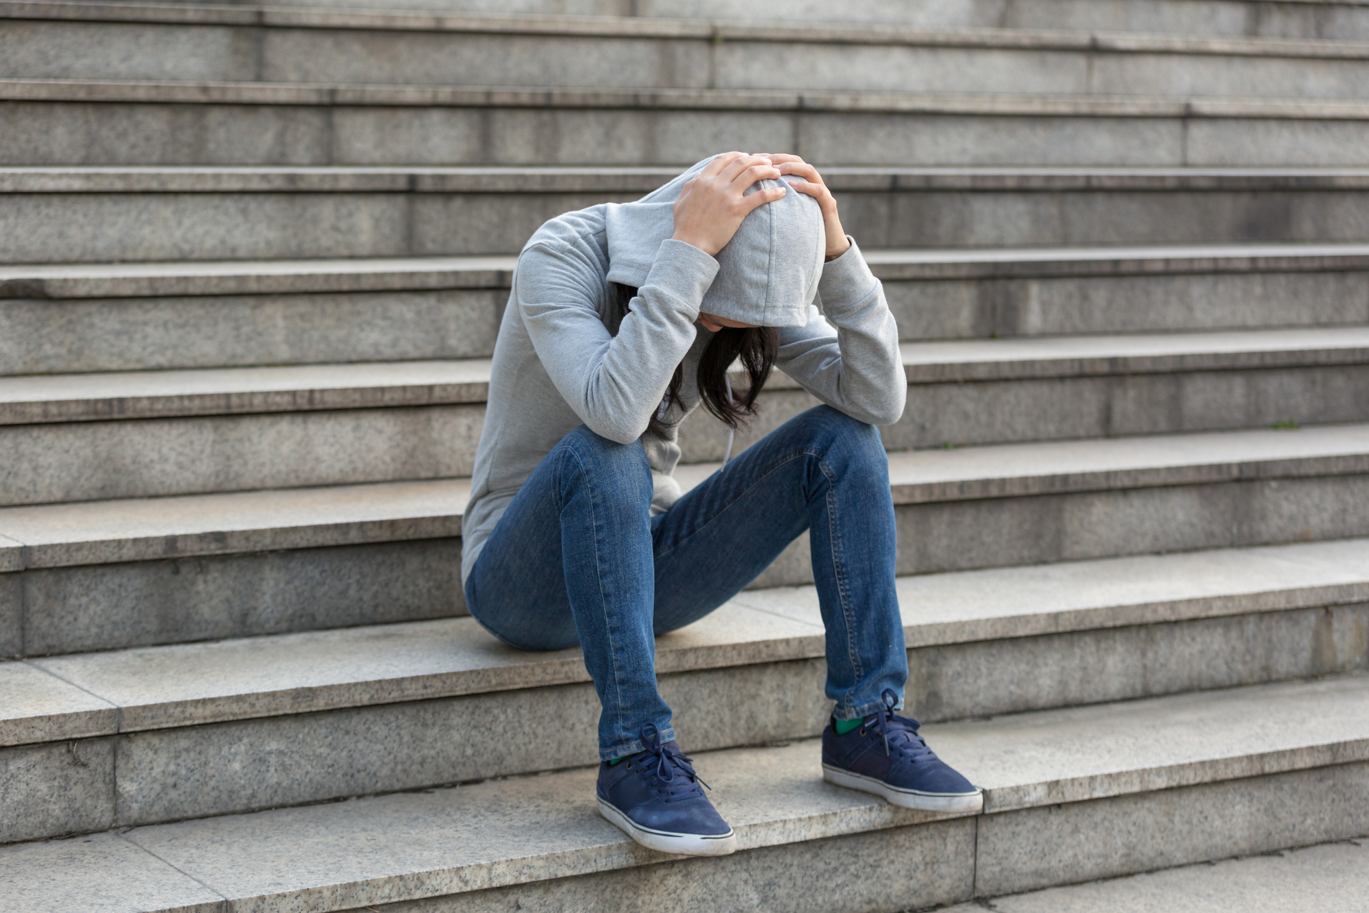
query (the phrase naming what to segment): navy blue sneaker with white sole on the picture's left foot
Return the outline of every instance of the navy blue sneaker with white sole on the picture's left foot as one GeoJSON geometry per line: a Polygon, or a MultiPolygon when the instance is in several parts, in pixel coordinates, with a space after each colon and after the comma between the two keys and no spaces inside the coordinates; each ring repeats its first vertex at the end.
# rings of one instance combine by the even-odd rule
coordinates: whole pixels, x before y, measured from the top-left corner
{"type": "Polygon", "coordinates": [[[642,846],[682,856],[727,856],[737,835],[704,795],[690,760],[674,741],[661,745],[652,724],[642,730],[646,750],[609,767],[600,762],[596,794],[600,814],[642,846]]]}

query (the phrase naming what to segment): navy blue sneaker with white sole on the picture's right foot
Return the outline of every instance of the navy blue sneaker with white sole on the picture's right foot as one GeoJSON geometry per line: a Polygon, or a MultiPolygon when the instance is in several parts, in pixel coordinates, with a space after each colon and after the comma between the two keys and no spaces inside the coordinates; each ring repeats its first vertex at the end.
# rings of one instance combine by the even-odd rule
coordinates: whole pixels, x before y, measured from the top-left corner
{"type": "Polygon", "coordinates": [[[836,735],[823,730],[823,779],[849,790],[883,795],[894,805],[925,812],[979,812],[984,794],[936,757],[917,720],[897,716],[898,695],[884,691],[884,709],[860,728],[836,735]]]}

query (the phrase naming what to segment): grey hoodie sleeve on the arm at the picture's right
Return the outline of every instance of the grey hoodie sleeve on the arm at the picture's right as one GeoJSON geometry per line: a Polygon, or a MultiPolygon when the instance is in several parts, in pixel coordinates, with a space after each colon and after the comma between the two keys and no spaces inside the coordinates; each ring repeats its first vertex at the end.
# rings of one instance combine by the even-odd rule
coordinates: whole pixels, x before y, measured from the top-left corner
{"type": "Polygon", "coordinates": [[[780,330],[776,367],[827,405],[871,424],[904,415],[908,375],[884,286],[856,241],[823,264],[817,293],[827,319],[812,308],[808,326],[780,330]]]}

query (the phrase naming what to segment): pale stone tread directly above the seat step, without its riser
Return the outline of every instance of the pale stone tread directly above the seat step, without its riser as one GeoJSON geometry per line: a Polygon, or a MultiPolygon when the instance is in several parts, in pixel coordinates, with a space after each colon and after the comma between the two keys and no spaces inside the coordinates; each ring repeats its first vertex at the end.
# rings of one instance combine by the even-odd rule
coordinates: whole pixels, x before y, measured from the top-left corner
{"type": "MultiPolygon", "coordinates": [[[[888,454],[898,504],[1364,471],[1369,424],[888,454]]],[[[717,464],[686,464],[686,490],[717,464]]],[[[0,508],[0,571],[460,535],[468,479],[0,508]],[[10,543],[5,543],[8,541],[10,543]]]]}

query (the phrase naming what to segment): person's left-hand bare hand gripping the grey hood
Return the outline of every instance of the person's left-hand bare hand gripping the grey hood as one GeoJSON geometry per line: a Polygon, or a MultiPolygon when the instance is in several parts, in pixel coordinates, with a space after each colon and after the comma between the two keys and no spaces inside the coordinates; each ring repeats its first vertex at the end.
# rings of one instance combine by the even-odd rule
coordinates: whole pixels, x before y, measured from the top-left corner
{"type": "Polygon", "coordinates": [[[746,188],[778,177],[779,170],[768,156],[724,152],[704,166],[680,190],[675,200],[675,234],[671,237],[693,244],[711,257],[717,256],[737,234],[746,214],[786,193],[779,186],[743,197],[746,188]]]}

